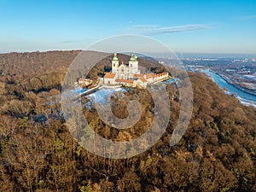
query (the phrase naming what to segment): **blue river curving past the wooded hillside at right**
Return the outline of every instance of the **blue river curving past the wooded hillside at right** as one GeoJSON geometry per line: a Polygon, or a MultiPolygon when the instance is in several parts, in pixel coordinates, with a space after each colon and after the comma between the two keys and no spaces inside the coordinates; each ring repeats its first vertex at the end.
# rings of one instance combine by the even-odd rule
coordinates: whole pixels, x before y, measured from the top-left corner
{"type": "Polygon", "coordinates": [[[207,73],[212,77],[212,80],[218,84],[221,89],[227,88],[228,94],[236,93],[236,97],[240,100],[241,104],[243,105],[253,105],[256,108],[256,96],[248,94],[242,90],[238,90],[235,86],[226,82],[221,76],[217,73],[213,73],[209,69],[202,70],[203,73],[207,73]]]}

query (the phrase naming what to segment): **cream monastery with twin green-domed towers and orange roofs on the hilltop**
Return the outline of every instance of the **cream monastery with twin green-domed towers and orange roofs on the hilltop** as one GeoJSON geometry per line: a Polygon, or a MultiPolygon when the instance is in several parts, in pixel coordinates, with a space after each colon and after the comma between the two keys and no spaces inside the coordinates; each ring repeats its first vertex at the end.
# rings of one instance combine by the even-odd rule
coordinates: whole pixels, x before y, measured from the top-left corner
{"type": "Polygon", "coordinates": [[[168,79],[169,73],[164,72],[160,74],[154,73],[140,73],[138,69],[137,56],[131,54],[130,61],[127,64],[122,63],[119,65],[117,54],[113,54],[112,71],[106,73],[103,79],[104,84],[122,84],[126,86],[139,86],[147,87],[148,84],[168,79]]]}

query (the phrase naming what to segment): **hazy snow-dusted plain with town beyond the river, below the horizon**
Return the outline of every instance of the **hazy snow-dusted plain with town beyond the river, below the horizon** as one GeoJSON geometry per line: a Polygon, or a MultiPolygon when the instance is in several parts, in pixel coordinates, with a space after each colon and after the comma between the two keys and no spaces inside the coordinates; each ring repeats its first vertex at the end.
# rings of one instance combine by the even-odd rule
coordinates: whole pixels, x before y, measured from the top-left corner
{"type": "Polygon", "coordinates": [[[187,70],[202,73],[210,69],[237,89],[256,96],[256,59],[248,58],[182,58],[187,70]]]}

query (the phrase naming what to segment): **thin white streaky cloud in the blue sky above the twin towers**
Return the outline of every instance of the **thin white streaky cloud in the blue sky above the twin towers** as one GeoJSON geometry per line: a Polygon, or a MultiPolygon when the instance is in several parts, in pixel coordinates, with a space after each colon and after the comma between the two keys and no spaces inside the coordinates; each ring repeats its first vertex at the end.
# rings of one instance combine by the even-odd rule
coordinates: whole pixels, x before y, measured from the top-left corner
{"type": "Polygon", "coordinates": [[[129,32],[143,35],[169,34],[174,32],[194,32],[210,29],[207,25],[185,25],[185,26],[167,26],[160,27],[154,25],[131,26],[129,32]]]}

